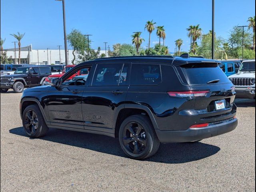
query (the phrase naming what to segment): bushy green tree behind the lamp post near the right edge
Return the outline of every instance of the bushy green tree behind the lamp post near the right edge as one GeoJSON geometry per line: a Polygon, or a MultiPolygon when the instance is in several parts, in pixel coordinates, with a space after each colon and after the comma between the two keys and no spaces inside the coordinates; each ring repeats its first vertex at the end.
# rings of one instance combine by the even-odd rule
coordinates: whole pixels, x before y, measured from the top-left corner
{"type": "MultiPolygon", "coordinates": [[[[242,48],[242,35],[243,30],[242,28],[238,28],[234,26],[232,30],[230,30],[228,36],[228,44],[230,46],[230,50],[228,51],[228,55],[232,56],[233,58],[239,58],[239,50],[242,48]]],[[[251,39],[252,34],[249,30],[244,31],[244,47],[250,48],[251,46],[251,39]]]]}

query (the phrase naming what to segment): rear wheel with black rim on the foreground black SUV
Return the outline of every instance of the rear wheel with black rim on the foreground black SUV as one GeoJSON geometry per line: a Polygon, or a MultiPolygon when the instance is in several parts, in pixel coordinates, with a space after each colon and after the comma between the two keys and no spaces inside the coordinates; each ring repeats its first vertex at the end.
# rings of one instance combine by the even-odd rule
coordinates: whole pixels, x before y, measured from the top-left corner
{"type": "Polygon", "coordinates": [[[133,115],[122,122],[119,142],[124,153],[134,159],[153,156],[160,145],[150,118],[144,115],[133,115]]]}

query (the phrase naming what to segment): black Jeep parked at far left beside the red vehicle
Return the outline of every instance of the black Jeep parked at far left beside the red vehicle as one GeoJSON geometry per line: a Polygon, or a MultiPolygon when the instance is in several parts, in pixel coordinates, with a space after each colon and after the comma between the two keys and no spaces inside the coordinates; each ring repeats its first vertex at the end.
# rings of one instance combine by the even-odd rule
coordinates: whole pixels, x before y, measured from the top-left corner
{"type": "Polygon", "coordinates": [[[1,93],[13,89],[21,93],[25,87],[39,86],[51,74],[49,66],[24,66],[19,67],[13,75],[1,77],[1,93]]]}

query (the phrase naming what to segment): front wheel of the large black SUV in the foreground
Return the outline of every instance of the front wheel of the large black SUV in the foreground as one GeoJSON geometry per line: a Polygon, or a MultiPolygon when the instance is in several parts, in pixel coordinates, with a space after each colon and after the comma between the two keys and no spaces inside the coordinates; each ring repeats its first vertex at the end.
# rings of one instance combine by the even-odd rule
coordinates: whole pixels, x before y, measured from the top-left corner
{"type": "Polygon", "coordinates": [[[38,105],[26,107],[22,114],[22,125],[26,134],[32,138],[42,137],[49,130],[38,105]]]}

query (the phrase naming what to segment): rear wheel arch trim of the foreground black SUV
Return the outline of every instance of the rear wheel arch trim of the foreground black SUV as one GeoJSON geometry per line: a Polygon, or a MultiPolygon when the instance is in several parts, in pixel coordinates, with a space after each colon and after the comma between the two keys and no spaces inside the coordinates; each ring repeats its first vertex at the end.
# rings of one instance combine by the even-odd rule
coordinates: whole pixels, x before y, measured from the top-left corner
{"type": "Polygon", "coordinates": [[[144,114],[148,116],[152,122],[154,129],[158,129],[158,125],[153,116],[153,113],[147,106],[138,104],[122,104],[118,106],[114,116],[113,127],[115,128],[115,137],[118,137],[119,128],[123,120],[129,116],[136,114],[144,114]]]}

